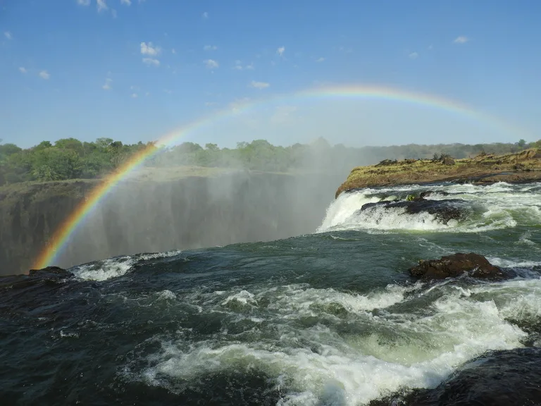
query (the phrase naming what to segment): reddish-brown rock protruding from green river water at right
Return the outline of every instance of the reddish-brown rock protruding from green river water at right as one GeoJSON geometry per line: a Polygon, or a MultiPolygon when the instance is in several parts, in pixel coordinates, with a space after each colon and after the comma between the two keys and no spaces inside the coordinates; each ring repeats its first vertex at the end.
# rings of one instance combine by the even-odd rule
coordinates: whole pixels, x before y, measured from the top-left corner
{"type": "Polygon", "coordinates": [[[470,252],[457,253],[442,257],[419,261],[418,266],[409,270],[411,276],[422,279],[444,279],[461,276],[465,272],[473,278],[504,278],[504,272],[494,266],[483,255],[470,252]]]}

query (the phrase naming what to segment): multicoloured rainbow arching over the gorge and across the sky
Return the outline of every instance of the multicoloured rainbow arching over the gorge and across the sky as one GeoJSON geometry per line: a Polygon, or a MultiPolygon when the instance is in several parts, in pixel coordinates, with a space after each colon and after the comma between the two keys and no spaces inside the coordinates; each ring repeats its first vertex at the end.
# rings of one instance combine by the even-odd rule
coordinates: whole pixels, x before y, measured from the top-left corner
{"type": "MultiPolygon", "coordinates": [[[[220,121],[224,118],[229,118],[235,116],[237,113],[247,113],[252,109],[257,109],[261,106],[273,103],[275,101],[286,101],[290,99],[344,99],[344,98],[354,98],[354,99],[375,99],[375,100],[385,100],[385,101],[396,101],[403,102],[406,104],[413,104],[423,107],[428,107],[431,109],[448,111],[450,113],[456,113],[460,116],[466,116],[473,118],[476,121],[485,121],[496,125],[501,128],[509,128],[516,132],[516,129],[512,129],[508,124],[500,121],[498,118],[489,116],[480,111],[476,111],[465,104],[461,104],[458,101],[453,101],[451,99],[445,99],[443,97],[437,97],[430,94],[423,94],[418,92],[409,92],[405,90],[399,90],[393,87],[385,86],[366,86],[366,85],[343,85],[343,86],[332,86],[332,87],[316,87],[310,90],[304,90],[297,93],[286,94],[286,95],[277,95],[275,97],[270,97],[268,99],[262,99],[259,101],[248,101],[244,104],[238,104],[234,108],[224,109],[222,111],[215,112],[210,116],[205,116],[197,121],[189,123],[184,127],[175,129],[170,133],[161,137],[156,144],[166,146],[167,144],[173,144],[180,137],[184,137],[189,133],[194,132],[204,128],[206,125],[211,125],[220,121]]],[[[35,268],[41,269],[45,266],[49,266],[54,262],[58,254],[63,250],[64,247],[68,244],[70,236],[75,233],[77,227],[80,224],[85,222],[85,219],[92,212],[94,207],[97,207],[99,202],[101,202],[106,195],[108,195],[113,188],[120,183],[130,172],[134,171],[135,168],[142,165],[142,163],[160,151],[160,148],[155,148],[152,146],[142,149],[140,152],[137,152],[131,159],[123,166],[118,168],[115,173],[104,178],[104,180],[94,188],[86,197],[85,201],[80,204],[69,216],[63,221],[60,227],[57,228],[52,238],[49,242],[46,243],[46,246],[39,254],[39,257],[35,260],[35,268]]]]}

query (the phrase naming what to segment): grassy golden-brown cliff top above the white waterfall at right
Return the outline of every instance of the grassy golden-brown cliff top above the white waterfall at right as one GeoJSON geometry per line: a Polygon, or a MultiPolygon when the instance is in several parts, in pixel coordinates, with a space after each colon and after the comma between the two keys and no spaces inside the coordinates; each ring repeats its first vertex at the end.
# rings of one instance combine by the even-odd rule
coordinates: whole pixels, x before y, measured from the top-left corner
{"type": "Polygon", "coordinates": [[[475,158],[386,159],[371,166],[353,168],[338,187],[335,197],[362,187],[411,185],[434,182],[526,183],[541,180],[541,149],[526,149],[514,154],[479,154],[475,158]]]}

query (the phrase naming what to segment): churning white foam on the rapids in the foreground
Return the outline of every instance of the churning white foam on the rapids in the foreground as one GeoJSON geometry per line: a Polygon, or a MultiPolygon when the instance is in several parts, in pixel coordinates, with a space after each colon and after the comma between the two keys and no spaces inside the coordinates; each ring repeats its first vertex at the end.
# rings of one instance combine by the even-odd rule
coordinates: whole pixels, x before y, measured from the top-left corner
{"type": "Polygon", "coordinates": [[[204,306],[205,312],[232,302],[259,309],[256,318],[246,318],[259,328],[264,323],[268,336],[258,333],[242,342],[221,331],[194,343],[162,340],[161,351],[149,357],[150,366],[139,372],[139,379],[174,387],[178,382],[197,385],[199,377],[218,371],[256,370],[281,387],[281,405],[321,405],[333,399],[359,405],[404,386],[437,386],[486,350],[521,347],[527,334],[508,319],[541,316],[541,280],[474,288],[447,282],[430,290],[422,286],[389,285],[367,295],[306,285],[194,293],[186,299],[204,306]],[[426,302],[428,297],[434,298],[426,302]],[[334,319],[329,313],[333,304],[345,311],[334,319]],[[417,312],[387,310],[395,305],[417,312]],[[301,321],[310,317],[320,322],[303,326],[301,321]],[[357,326],[351,333],[333,327],[349,324],[357,326]]]}

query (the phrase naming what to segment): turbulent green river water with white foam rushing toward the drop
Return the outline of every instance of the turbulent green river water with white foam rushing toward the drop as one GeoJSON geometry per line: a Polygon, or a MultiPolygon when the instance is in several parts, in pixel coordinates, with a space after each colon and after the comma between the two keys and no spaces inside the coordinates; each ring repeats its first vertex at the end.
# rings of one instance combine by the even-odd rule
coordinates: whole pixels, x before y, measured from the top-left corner
{"type": "Polygon", "coordinates": [[[342,193],[310,235],[0,278],[2,404],[364,405],[436,388],[487,351],[541,346],[540,224],[541,184],[375,188],[342,193]],[[461,216],[361,209],[427,190],[461,216]],[[513,276],[407,272],[455,252],[513,276]]]}

